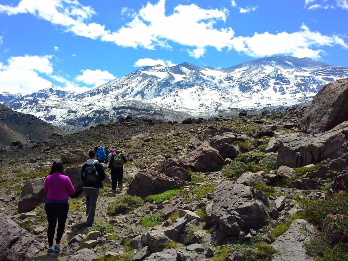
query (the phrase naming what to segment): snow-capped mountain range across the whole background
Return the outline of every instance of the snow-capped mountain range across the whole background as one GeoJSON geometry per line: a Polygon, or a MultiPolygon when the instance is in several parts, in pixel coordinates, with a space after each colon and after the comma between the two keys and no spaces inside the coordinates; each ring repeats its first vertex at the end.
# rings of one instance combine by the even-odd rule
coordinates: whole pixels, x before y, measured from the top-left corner
{"type": "Polygon", "coordinates": [[[325,84],[348,77],[348,68],[309,58],[278,56],[216,69],[182,63],[147,66],[88,92],[44,89],[0,94],[0,102],[75,132],[127,114],[182,120],[237,109],[262,110],[311,101],[325,84]]]}

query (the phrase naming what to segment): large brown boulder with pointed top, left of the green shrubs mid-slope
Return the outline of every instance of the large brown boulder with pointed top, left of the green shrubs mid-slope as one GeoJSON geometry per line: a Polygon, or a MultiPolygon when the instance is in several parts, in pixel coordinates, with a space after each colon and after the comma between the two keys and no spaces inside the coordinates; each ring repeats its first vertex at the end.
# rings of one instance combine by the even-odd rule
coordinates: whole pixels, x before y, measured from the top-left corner
{"type": "Polygon", "coordinates": [[[196,171],[208,171],[224,163],[219,151],[203,143],[197,149],[190,152],[184,159],[183,165],[196,171]]]}

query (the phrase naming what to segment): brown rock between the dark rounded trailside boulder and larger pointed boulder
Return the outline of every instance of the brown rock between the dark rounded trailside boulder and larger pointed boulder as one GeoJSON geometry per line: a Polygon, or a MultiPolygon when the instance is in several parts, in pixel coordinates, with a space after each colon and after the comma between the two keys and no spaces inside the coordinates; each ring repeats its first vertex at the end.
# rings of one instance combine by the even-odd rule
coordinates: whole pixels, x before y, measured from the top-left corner
{"type": "Polygon", "coordinates": [[[188,170],[183,168],[175,158],[165,159],[157,168],[157,171],[168,177],[178,177],[182,180],[191,181],[188,170]]]}

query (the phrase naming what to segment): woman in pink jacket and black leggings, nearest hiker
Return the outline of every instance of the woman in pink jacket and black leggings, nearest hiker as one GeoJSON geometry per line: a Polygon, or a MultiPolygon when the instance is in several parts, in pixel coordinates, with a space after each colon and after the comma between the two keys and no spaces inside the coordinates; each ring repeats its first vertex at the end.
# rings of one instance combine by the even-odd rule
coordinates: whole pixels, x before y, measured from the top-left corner
{"type": "Polygon", "coordinates": [[[71,180],[64,175],[62,161],[54,161],[51,171],[45,179],[44,191],[47,193],[45,211],[48,221],[47,254],[60,252],[62,248],[60,242],[64,233],[66,218],[69,210],[69,195],[75,192],[71,180]],[[53,247],[54,232],[58,221],[56,245],[53,247]]]}

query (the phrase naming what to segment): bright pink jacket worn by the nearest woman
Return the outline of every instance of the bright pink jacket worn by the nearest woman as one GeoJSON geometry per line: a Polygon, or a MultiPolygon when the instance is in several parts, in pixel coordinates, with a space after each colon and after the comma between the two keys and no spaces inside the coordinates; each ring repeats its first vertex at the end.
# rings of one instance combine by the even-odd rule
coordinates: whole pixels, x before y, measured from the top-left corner
{"type": "Polygon", "coordinates": [[[68,200],[75,189],[68,176],[55,172],[46,177],[44,191],[47,193],[46,200],[68,200]]]}

